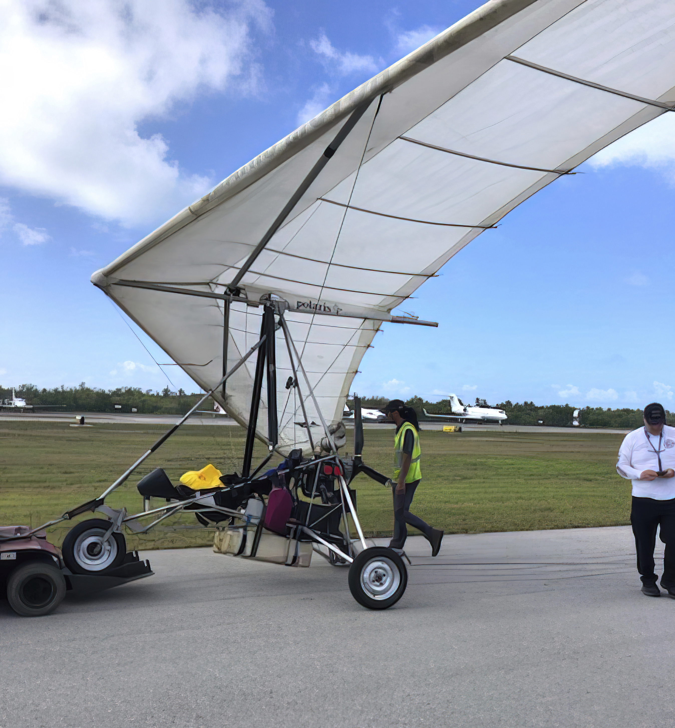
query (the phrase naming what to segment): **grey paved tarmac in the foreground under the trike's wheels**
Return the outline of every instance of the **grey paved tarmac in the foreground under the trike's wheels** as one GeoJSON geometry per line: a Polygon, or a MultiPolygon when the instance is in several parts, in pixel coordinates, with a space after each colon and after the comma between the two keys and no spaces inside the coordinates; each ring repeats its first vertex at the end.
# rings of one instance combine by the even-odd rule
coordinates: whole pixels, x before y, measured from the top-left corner
{"type": "Polygon", "coordinates": [[[154,577],[50,617],[0,602],[0,727],[675,724],[675,599],[640,593],[629,527],[406,550],[385,612],[316,555],[291,569],[208,549],[143,553],[154,577]]]}

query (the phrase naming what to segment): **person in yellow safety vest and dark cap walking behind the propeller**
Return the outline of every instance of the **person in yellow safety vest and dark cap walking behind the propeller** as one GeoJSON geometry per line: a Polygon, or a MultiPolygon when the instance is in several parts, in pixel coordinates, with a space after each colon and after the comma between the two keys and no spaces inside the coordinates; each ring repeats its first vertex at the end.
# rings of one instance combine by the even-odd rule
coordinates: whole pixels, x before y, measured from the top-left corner
{"type": "Polygon", "coordinates": [[[422,531],[431,544],[431,555],[435,556],[441,550],[443,531],[433,529],[428,523],[422,521],[414,513],[410,513],[415,489],[422,480],[422,470],[419,459],[422,450],[419,448],[419,424],[417,414],[412,407],[407,407],[401,400],[391,400],[384,408],[390,419],[396,425],[394,435],[394,451],[396,466],[394,470],[394,483],[392,487],[394,496],[394,537],[389,547],[402,550],[408,537],[406,523],[422,531]]]}

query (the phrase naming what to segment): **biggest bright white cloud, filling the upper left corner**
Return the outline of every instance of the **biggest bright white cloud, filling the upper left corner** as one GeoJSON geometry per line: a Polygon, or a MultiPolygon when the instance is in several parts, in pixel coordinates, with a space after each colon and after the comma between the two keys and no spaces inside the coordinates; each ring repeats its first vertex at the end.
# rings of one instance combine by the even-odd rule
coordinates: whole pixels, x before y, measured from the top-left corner
{"type": "Polygon", "coordinates": [[[0,183],[125,224],[157,221],[211,181],[138,123],[204,90],[255,92],[262,0],[7,0],[0,9],[0,183]]]}

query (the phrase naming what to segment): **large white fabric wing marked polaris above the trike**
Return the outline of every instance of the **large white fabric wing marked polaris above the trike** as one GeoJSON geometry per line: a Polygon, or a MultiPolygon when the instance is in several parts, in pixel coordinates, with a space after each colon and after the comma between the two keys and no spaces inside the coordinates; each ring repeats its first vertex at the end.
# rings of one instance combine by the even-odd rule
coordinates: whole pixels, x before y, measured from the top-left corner
{"type": "MultiPolygon", "coordinates": [[[[208,296],[227,293],[244,266],[237,288],[250,303],[232,304],[229,365],[258,340],[261,308],[251,304],[283,298],[320,408],[338,422],[392,309],[534,192],[668,113],[674,87],[673,3],[492,1],[237,170],[92,281],[210,389],[224,368],[224,303],[208,296]],[[358,122],[252,256],[357,109],[358,122]]],[[[296,391],[284,386],[292,372],[280,335],[280,446],[307,448],[296,391]]],[[[255,357],[221,397],[242,424],[254,368],[255,357]]],[[[261,408],[261,436],[265,416],[261,408]]]]}

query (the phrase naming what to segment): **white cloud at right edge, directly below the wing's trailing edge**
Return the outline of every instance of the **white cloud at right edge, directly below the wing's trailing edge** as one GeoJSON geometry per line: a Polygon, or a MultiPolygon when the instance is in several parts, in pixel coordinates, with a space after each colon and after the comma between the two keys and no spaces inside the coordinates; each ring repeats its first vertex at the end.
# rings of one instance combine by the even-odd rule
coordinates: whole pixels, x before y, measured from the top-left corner
{"type": "Polygon", "coordinates": [[[675,118],[674,114],[658,116],[606,149],[589,162],[593,167],[638,165],[662,170],[675,182],[675,118]]]}

